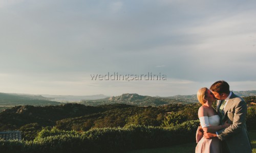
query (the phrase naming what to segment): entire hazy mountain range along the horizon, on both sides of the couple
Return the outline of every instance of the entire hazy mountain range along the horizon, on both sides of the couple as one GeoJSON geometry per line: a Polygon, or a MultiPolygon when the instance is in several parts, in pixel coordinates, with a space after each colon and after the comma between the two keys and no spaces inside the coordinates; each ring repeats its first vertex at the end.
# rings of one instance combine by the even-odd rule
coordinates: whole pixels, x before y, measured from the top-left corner
{"type": "MultiPolygon", "coordinates": [[[[233,91],[235,94],[247,97],[256,96],[256,90],[233,91]]],[[[59,105],[59,102],[80,103],[88,106],[98,106],[105,104],[127,104],[137,106],[160,106],[168,104],[189,104],[198,103],[197,95],[175,95],[168,97],[146,96],[137,93],[125,93],[120,96],[106,96],[103,94],[74,96],[74,95],[33,95],[33,94],[16,94],[16,93],[0,93],[0,106],[17,106],[17,105],[33,105],[48,106],[59,105]]]]}

